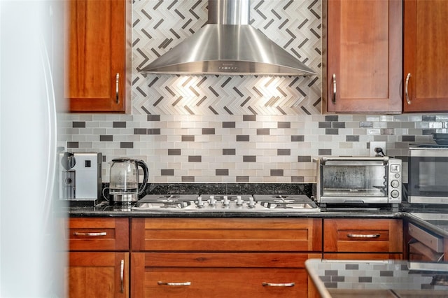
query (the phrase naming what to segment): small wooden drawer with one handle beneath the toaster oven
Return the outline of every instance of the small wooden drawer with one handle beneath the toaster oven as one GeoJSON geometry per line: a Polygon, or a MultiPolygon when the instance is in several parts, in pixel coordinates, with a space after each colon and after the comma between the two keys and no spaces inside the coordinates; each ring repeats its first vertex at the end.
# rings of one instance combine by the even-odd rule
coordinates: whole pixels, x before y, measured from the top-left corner
{"type": "Polygon", "coordinates": [[[325,219],[324,253],[402,253],[402,220],[325,219]]]}

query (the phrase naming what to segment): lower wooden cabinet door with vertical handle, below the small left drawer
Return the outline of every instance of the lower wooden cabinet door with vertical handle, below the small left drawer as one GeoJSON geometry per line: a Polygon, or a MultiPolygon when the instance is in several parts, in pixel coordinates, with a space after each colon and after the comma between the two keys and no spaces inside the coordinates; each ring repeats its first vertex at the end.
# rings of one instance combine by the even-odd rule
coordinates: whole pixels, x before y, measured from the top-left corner
{"type": "Polygon", "coordinates": [[[71,252],[66,281],[70,298],[129,297],[129,253],[71,252]]]}

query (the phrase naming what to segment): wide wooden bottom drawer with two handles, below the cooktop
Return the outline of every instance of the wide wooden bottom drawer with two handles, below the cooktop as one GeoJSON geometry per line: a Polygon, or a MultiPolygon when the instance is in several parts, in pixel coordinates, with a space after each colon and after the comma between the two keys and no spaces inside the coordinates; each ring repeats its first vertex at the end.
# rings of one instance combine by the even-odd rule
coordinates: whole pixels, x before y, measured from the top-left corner
{"type": "Polygon", "coordinates": [[[227,253],[204,253],[202,257],[132,253],[132,297],[307,297],[309,278],[304,261],[321,255],[288,254],[298,268],[269,268],[271,254],[254,255],[259,261],[256,268],[242,267],[249,264],[244,264],[243,258],[233,260],[227,253]],[[222,262],[225,258],[227,262],[222,262]],[[186,262],[189,267],[184,267],[186,262]]]}

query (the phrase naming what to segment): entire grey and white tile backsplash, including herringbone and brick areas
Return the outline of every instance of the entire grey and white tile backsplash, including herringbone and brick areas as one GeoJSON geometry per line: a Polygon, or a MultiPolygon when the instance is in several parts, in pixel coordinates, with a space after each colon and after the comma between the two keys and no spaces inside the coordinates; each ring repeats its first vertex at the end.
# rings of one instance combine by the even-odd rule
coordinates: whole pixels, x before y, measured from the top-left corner
{"type": "MultiPolygon", "coordinates": [[[[448,115],[321,115],[321,76],[144,76],[138,69],[207,22],[206,0],[132,2],[132,115],[67,114],[59,145],[143,159],[151,183],[314,183],[313,159],[403,159],[447,132],[448,115]]],[[[252,0],[251,24],[321,73],[321,1],[252,0]]],[[[404,172],[404,182],[407,174],[404,172]]]]}

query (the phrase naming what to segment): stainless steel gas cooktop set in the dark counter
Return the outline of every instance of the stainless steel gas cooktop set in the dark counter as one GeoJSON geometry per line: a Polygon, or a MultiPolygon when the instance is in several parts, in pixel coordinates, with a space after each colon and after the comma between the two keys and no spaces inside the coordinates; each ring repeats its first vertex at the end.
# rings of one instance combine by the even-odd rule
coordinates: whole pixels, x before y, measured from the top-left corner
{"type": "Polygon", "coordinates": [[[320,211],[304,194],[148,194],[132,209],[266,213],[320,211]]]}

